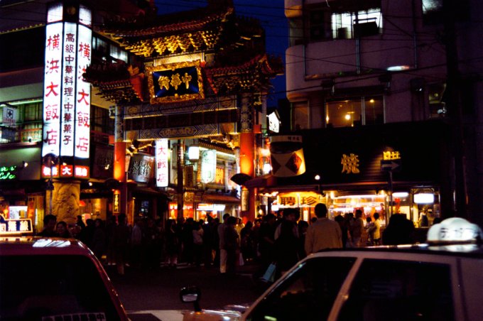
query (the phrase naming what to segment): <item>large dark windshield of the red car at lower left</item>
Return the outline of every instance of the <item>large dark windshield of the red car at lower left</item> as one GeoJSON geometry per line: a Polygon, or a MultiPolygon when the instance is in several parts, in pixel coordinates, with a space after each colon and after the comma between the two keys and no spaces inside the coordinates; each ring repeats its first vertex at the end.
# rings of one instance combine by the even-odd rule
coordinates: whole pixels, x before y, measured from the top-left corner
{"type": "Polygon", "coordinates": [[[0,256],[0,320],[116,320],[85,256],[0,256]]]}

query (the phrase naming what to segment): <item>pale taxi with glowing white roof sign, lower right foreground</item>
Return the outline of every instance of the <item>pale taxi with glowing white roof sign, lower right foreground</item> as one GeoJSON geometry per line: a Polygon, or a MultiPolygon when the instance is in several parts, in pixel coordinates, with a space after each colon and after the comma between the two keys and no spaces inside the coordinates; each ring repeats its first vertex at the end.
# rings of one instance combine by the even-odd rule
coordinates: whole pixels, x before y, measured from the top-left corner
{"type": "Polygon", "coordinates": [[[424,244],[330,249],[310,254],[246,310],[197,311],[183,320],[482,320],[482,230],[453,217],[424,244]]]}

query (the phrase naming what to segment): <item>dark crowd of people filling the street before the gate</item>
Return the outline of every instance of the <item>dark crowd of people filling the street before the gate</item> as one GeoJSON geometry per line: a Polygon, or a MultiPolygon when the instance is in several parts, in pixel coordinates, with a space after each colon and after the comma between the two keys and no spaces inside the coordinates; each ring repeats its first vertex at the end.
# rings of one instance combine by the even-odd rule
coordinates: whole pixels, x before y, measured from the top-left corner
{"type": "Polygon", "coordinates": [[[281,276],[300,259],[321,249],[409,242],[411,228],[402,216],[393,215],[381,237],[378,213],[367,217],[366,222],[362,210],[339,214],[332,220],[322,203],[315,206],[315,217],[310,222],[300,219],[300,212],[295,208],[245,223],[227,213],[221,220],[207,214],[200,220],[188,217],[166,222],[139,216],[134,218],[132,226],[127,224],[125,214],[110,216],[107,222],[102,219],[84,222],[79,215],[72,227],[48,214],[44,217],[44,229],[38,235],[80,239],[102,263],[115,265],[119,274],[124,274],[125,266],[175,268],[185,263],[219,268],[219,273],[233,275],[237,266],[256,261],[258,276],[272,263],[281,276]],[[404,229],[398,228],[401,222],[404,229]]]}

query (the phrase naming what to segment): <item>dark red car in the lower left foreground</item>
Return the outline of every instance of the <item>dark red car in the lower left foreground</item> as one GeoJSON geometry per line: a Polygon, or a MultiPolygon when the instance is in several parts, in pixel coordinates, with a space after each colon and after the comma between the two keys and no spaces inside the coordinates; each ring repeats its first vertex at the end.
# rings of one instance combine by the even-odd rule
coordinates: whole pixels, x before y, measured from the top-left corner
{"type": "Polygon", "coordinates": [[[0,234],[0,320],[129,320],[85,244],[13,232],[0,234]]]}

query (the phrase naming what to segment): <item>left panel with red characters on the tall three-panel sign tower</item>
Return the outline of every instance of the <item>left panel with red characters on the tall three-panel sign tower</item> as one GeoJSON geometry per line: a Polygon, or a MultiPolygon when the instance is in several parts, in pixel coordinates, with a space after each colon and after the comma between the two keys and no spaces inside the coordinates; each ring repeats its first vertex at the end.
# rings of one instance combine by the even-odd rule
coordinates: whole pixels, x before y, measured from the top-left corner
{"type": "Polygon", "coordinates": [[[42,156],[59,155],[60,104],[62,102],[63,23],[45,27],[45,69],[43,82],[42,156]]]}

